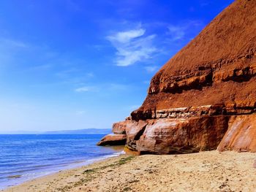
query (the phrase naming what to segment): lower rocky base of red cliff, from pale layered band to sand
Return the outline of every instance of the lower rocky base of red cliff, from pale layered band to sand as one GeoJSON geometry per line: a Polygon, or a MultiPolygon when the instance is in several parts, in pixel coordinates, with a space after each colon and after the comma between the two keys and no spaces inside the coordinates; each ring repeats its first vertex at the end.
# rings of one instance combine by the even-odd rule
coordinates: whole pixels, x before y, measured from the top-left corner
{"type": "Polygon", "coordinates": [[[159,110],[144,113],[142,119],[151,115],[146,120],[138,120],[135,115],[135,119],[131,116],[114,123],[113,133],[116,137],[126,135],[126,147],[140,154],[195,153],[217,148],[256,152],[255,112],[256,105],[236,104],[159,110]]]}

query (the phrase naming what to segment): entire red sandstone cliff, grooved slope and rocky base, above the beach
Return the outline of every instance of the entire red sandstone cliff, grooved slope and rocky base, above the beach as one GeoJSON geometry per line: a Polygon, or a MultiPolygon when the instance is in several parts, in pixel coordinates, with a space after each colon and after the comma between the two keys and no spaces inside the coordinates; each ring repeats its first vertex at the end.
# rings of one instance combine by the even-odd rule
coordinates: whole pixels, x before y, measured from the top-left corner
{"type": "Polygon", "coordinates": [[[142,154],[256,152],[255,118],[256,1],[237,0],[162,66],[113,133],[142,154]]]}

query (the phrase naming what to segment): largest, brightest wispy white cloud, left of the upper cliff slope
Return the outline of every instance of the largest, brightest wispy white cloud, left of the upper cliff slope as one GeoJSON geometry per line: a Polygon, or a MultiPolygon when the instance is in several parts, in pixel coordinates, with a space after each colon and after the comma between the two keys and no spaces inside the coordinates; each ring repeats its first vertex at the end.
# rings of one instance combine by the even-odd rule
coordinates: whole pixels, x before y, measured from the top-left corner
{"type": "Polygon", "coordinates": [[[156,35],[146,36],[145,33],[145,29],[136,28],[128,31],[119,31],[107,37],[117,50],[117,66],[130,66],[152,57],[157,51],[157,48],[153,45],[156,35]]]}

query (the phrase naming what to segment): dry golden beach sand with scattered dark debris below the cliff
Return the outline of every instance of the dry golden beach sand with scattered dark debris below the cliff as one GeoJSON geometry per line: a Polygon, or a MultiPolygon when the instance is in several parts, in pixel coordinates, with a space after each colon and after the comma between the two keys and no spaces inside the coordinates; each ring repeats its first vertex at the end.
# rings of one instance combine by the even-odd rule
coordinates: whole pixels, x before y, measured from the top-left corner
{"type": "Polygon", "coordinates": [[[5,191],[256,191],[256,153],[121,155],[5,191]]]}

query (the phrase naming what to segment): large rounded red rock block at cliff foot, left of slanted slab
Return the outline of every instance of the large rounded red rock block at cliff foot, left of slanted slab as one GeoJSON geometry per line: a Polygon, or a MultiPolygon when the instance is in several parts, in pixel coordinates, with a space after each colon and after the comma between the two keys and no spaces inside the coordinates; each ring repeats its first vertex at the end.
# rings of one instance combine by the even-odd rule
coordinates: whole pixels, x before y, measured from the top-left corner
{"type": "Polygon", "coordinates": [[[216,116],[151,120],[137,142],[137,150],[157,154],[214,150],[227,131],[228,119],[216,116]]]}

